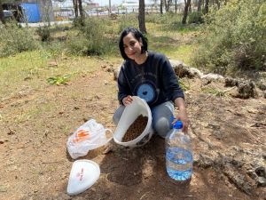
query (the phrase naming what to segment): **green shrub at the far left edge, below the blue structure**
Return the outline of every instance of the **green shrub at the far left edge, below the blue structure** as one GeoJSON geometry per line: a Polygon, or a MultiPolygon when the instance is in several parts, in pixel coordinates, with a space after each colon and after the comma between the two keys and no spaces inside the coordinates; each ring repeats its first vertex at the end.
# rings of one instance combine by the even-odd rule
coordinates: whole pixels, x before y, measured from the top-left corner
{"type": "Polygon", "coordinates": [[[19,52],[32,51],[39,47],[30,28],[20,28],[15,23],[8,23],[0,31],[0,57],[19,52]]]}

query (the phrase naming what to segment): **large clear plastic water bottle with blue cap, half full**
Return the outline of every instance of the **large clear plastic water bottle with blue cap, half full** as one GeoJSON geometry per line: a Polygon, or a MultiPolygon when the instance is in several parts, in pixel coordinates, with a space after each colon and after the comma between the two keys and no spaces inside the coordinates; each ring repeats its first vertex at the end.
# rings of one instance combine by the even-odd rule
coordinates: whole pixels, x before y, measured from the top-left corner
{"type": "Polygon", "coordinates": [[[166,137],[166,168],[170,178],[184,181],[192,177],[192,142],[177,121],[166,137]]]}

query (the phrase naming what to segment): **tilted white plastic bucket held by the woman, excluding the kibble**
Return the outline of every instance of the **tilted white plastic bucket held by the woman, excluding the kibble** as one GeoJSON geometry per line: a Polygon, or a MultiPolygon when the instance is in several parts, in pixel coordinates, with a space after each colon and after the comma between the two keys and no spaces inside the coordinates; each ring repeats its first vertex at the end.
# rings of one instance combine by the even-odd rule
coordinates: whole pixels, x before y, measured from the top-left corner
{"type": "Polygon", "coordinates": [[[152,127],[152,112],[145,100],[137,96],[133,96],[133,102],[129,104],[123,111],[121,119],[117,124],[117,127],[113,133],[113,140],[117,144],[125,147],[136,148],[145,145],[153,136],[152,127]],[[139,134],[139,136],[127,142],[122,142],[122,138],[129,129],[129,126],[135,122],[137,116],[147,116],[148,123],[146,124],[144,132],[139,134]]]}

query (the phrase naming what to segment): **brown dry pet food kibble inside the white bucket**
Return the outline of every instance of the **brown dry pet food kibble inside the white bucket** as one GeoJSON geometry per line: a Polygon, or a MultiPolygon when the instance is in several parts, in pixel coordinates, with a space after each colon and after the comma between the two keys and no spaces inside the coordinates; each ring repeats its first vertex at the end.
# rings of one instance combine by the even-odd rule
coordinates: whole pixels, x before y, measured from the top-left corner
{"type": "Polygon", "coordinates": [[[129,126],[128,131],[122,138],[122,142],[127,142],[136,139],[142,132],[144,132],[147,123],[147,116],[137,116],[137,119],[134,121],[133,124],[129,126]]]}

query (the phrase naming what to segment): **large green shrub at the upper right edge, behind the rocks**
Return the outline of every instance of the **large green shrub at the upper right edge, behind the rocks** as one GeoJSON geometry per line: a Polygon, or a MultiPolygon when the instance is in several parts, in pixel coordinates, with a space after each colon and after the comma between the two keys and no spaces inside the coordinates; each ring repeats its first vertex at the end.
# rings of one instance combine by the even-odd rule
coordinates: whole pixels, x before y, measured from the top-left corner
{"type": "Polygon", "coordinates": [[[194,65],[221,74],[266,69],[265,12],[263,0],[231,0],[222,9],[209,12],[194,65]]]}

